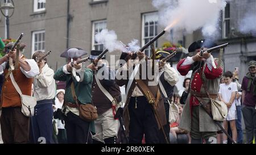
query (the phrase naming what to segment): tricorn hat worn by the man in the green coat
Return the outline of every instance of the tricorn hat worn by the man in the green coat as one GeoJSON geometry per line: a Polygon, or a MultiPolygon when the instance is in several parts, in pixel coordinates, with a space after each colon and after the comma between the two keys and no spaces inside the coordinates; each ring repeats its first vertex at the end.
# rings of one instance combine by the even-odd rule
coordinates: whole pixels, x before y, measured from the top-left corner
{"type": "Polygon", "coordinates": [[[81,56],[87,55],[84,49],[81,48],[68,48],[63,53],[61,53],[60,57],[65,58],[78,58],[81,56]]]}

